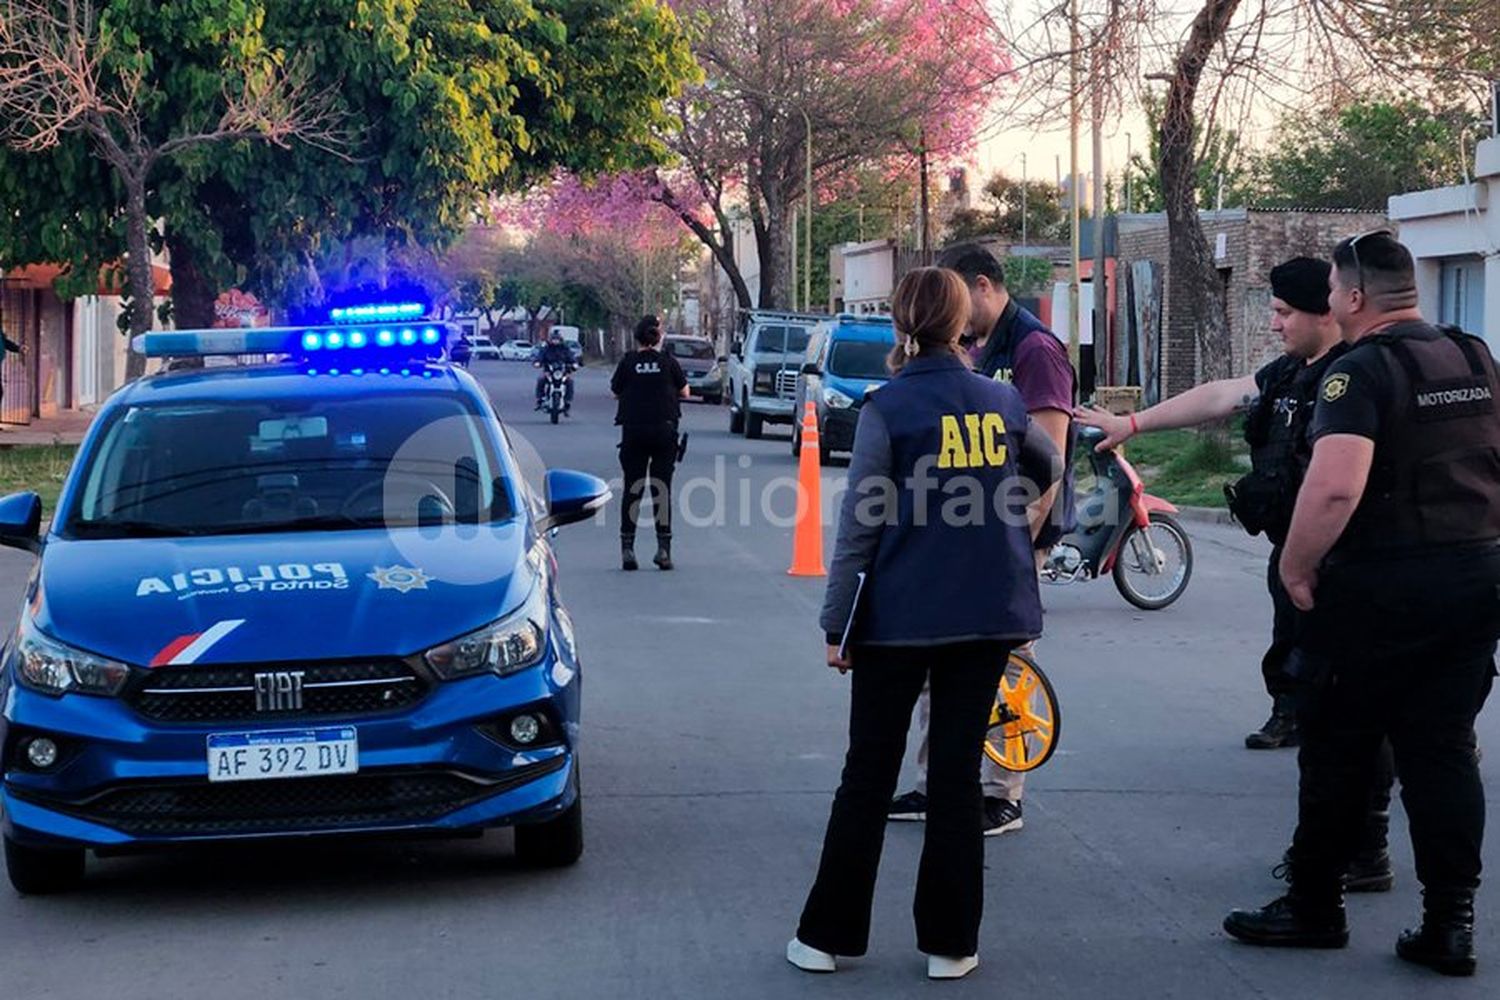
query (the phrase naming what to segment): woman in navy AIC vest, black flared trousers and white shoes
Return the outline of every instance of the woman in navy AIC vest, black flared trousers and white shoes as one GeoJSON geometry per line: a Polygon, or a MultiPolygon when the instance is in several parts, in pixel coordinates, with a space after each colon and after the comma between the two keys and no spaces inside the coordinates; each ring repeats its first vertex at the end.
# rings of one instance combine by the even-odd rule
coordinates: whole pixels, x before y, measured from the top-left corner
{"type": "Polygon", "coordinates": [[[1056,450],[1032,430],[1011,385],[969,370],[958,346],[968,295],[954,271],[902,279],[891,309],[896,375],[867,397],[855,430],[820,618],[828,666],[854,673],[849,751],[786,949],[807,972],[834,972],[837,955],[866,952],[885,813],[928,678],[916,946],[933,979],[978,966],[981,744],[1010,651],[1041,634],[1028,505],[1052,484],[1056,450]]]}

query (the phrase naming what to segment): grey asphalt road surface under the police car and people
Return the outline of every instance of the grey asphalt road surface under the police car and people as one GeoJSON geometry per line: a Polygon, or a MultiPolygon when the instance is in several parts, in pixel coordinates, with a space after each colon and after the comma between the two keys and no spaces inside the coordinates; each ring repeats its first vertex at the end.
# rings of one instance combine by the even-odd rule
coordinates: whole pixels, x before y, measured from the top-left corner
{"type": "MultiPolygon", "coordinates": [[[[530,367],[476,372],[548,465],[618,475],[606,373],[584,372],[576,415],[552,427],[531,412],[530,367]]],[[[940,987],[924,978],[910,924],[916,825],[890,831],[870,955],[836,976],[794,970],[782,951],[837,784],[848,682],[822,666],[822,582],[786,574],[784,430],[730,438],[726,411],[705,406],[686,423],[681,481],[700,484],[678,523],[676,571],[621,573],[614,517],[558,540],[586,676],[588,846],[576,867],[516,867],[508,832],[94,861],[80,894],[0,891],[0,997],[1494,996],[1492,889],[1480,895],[1478,979],[1440,981],[1392,955],[1419,912],[1400,814],[1396,888],[1350,901],[1347,951],[1262,951],[1220,930],[1230,907],[1278,894],[1269,870],[1296,778],[1292,751],[1240,745],[1268,708],[1266,549],[1209,525],[1190,525],[1197,568],[1166,612],[1131,609],[1108,582],[1044,592],[1040,654],[1062,744],[1032,777],[1026,828],[988,841],[980,972],[940,987]],[[702,483],[720,471],[714,511],[702,483]]],[[[840,477],[826,469],[824,483],[840,477]]],[[[27,556],[0,550],[6,627],[28,571],[27,556]]],[[[1480,741],[1497,736],[1491,711],[1480,741]]],[[[1491,808],[1497,760],[1484,763],[1491,808]]],[[[1486,862],[1500,864],[1496,838],[1486,862]]]]}

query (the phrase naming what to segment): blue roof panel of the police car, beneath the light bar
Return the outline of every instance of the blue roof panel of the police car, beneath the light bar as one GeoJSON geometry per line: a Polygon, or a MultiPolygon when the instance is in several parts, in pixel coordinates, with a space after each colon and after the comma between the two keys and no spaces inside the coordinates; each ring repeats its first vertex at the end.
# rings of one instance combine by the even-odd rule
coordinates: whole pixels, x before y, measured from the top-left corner
{"type": "Polygon", "coordinates": [[[310,394],[354,399],[375,393],[472,394],[477,391],[472,379],[462,378],[447,364],[412,364],[405,369],[410,375],[402,375],[400,369],[388,375],[380,372],[332,375],[328,370],[310,375],[309,370],[314,369],[306,364],[276,363],[160,372],[130,382],[108,405],[140,406],[204,399],[304,399],[310,394]]]}

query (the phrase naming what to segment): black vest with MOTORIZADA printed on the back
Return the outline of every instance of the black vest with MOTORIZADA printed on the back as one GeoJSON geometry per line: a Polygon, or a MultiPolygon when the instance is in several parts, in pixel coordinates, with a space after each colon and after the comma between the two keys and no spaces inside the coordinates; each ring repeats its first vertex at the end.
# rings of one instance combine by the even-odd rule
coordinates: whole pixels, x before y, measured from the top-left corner
{"type": "Polygon", "coordinates": [[[1412,330],[1413,324],[1401,324],[1350,351],[1384,354],[1395,393],[1376,442],[1370,483],[1340,540],[1340,553],[1500,538],[1496,360],[1479,337],[1452,328],[1434,337],[1412,330]]]}

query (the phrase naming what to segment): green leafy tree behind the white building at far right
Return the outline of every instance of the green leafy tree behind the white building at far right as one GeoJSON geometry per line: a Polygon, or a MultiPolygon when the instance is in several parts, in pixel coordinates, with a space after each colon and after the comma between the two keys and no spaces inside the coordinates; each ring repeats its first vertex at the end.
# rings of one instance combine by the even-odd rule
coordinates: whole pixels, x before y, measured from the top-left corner
{"type": "Polygon", "coordinates": [[[1392,195],[1461,183],[1482,127],[1466,106],[1416,100],[1293,114],[1276,129],[1275,147],[1256,157],[1256,201],[1383,211],[1392,195]]]}

